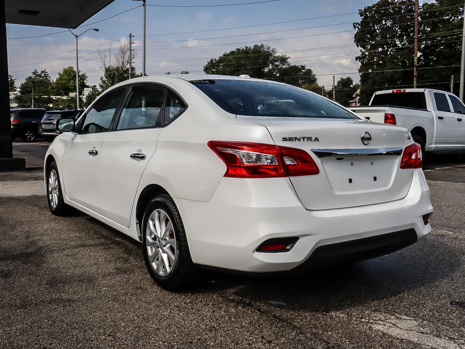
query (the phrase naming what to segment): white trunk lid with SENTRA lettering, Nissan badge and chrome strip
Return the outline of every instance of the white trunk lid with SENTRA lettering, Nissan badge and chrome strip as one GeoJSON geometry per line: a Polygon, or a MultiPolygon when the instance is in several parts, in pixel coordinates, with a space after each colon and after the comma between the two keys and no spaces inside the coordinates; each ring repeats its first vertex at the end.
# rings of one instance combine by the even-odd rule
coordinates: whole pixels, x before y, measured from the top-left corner
{"type": "Polygon", "coordinates": [[[312,156],[318,175],[290,177],[309,210],[370,205],[407,195],[413,169],[400,168],[401,153],[412,143],[405,128],[363,120],[237,118],[265,126],[276,145],[312,156]]]}

